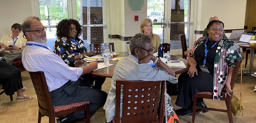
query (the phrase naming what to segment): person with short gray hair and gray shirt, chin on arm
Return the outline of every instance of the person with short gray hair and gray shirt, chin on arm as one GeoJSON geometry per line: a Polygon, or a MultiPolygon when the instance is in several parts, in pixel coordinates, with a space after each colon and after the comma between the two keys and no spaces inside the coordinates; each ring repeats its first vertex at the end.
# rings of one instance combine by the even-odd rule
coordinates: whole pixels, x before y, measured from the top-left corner
{"type": "MultiPolygon", "coordinates": [[[[115,122],[115,96],[116,96],[116,80],[131,80],[131,81],[163,81],[167,80],[172,83],[177,83],[175,73],[159,58],[154,57],[153,43],[150,35],[136,34],[130,41],[131,54],[128,57],[123,57],[117,63],[112,77],[111,88],[109,90],[107,101],[103,107],[106,112],[107,122],[115,122]],[[153,60],[159,68],[152,68],[147,64],[153,60]]],[[[121,97],[122,99],[122,97],[121,97]]],[[[121,104],[122,105],[122,104],[121,104]]],[[[121,114],[120,114],[121,116],[121,114]]]]}

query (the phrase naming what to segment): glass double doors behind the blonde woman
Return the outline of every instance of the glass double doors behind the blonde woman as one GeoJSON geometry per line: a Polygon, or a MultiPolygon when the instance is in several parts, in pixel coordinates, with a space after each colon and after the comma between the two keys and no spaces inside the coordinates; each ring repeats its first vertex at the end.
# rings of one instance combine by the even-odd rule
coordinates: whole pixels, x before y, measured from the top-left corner
{"type": "MultiPolygon", "coordinates": [[[[170,53],[182,54],[180,35],[185,34],[189,46],[192,22],[191,0],[148,0],[147,15],[153,22],[153,33],[158,34],[163,43],[170,43],[170,53]],[[157,12],[163,11],[163,17],[156,19],[157,12]]],[[[159,16],[159,15],[158,15],[159,16]]]]}

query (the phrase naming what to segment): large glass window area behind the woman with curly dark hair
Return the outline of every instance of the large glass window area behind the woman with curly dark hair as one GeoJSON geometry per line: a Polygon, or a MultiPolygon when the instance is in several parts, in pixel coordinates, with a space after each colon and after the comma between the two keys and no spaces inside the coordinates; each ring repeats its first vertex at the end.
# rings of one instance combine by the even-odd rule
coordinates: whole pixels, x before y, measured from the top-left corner
{"type": "Polygon", "coordinates": [[[78,20],[82,25],[80,38],[88,50],[90,43],[103,43],[103,27],[106,24],[103,24],[101,0],[38,0],[34,4],[34,15],[39,15],[42,24],[47,27],[47,43],[52,50],[56,41],[56,24],[69,18],[78,20]]]}

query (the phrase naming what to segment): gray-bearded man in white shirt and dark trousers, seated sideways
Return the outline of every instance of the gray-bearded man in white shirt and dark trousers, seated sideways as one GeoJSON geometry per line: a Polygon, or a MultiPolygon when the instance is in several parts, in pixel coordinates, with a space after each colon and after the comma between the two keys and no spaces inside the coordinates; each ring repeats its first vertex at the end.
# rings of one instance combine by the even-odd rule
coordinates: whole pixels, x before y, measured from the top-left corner
{"type": "MultiPolygon", "coordinates": [[[[46,27],[38,17],[29,17],[22,23],[22,31],[27,38],[22,52],[23,66],[29,72],[44,72],[53,105],[90,101],[90,117],[93,116],[105,104],[107,93],[99,89],[80,87],[79,81],[82,80],[78,78],[97,69],[97,61],[80,68],[69,67],[47,46],[45,30],[46,27]]],[[[84,116],[84,110],[77,111],[57,119],[57,123],[74,122],[84,119],[84,116]]]]}

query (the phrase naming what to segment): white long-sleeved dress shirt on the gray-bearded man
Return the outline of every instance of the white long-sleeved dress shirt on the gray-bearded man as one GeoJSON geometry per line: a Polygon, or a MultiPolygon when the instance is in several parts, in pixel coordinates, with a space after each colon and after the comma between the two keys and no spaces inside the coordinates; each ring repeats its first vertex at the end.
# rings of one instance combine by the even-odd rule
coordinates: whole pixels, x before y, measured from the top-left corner
{"type": "Polygon", "coordinates": [[[27,41],[28,43],[35,45],[27,45],[23,50],[23,66],[29,72],[43,71],[50,92],[60,88],[69,80],[78,80],[79,76],[83,73],[82,68],[73,68],[65,64],[63,59],[53,53],[46,43],[27,41]]]}

